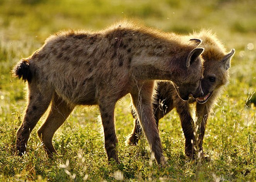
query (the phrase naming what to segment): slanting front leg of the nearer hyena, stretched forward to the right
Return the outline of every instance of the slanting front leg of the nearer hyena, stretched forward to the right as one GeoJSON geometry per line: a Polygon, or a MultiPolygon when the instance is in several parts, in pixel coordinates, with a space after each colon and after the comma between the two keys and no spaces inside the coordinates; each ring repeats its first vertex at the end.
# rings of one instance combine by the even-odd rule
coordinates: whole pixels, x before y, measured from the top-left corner
{"type": "Polygon", "coordinates": [[[136,108],[142,130],[146,135],[147,142],[154,154],[156,162],[160,165],[166,165],[163,155],[159,130],[153,115],[152,92],[154,81],[145,81],[137,83],[136,88],[131,92],[132,102],[136,108]]]}

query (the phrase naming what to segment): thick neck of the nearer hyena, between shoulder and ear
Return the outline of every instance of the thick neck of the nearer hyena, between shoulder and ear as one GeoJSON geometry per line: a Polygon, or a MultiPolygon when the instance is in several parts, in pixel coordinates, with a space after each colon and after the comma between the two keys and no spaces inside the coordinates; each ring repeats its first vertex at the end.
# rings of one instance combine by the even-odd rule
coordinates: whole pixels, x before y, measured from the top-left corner
{"type": "Polygon", "coordinates": [[[163,38],[139,33],[130,41],[133,47],[130,71],[134,77],[141,80],[174,80],[176,73],[186,70],[186,58],[195,45],[179,41],[177,37],[163,38]]]}

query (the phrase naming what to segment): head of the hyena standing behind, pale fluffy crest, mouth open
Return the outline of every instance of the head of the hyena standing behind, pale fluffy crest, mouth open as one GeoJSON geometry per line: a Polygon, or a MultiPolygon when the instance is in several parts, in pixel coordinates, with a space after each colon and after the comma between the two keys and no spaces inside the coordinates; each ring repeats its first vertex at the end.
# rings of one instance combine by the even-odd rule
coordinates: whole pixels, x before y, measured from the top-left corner
{"type": "Polygon", "coordinates": [[[193,33],[188,38],[200,38],[200,46],[204,48],[202,53],[203,62],[203,79],[201,86],[203,96],[197,98],[198,103],[205,103],[211,95],[218,94],[229,80],[230,61],[235,50],[232,49],[226,53],[224,45],[216,38],[211,31],[202,30],[199,33],[193,33]]]}

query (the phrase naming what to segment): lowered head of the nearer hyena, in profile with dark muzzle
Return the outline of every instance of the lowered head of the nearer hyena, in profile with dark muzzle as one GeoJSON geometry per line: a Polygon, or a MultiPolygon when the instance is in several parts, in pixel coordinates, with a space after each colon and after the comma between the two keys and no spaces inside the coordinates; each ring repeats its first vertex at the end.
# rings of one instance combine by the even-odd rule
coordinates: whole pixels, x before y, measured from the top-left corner
{"type": "MultiPolygon", "coordinates": [[[[198,39],[193,40],[196,40],[198,44],[201,42],[198,39]]],[[[203,78],[202,52],[203,48],[195,48],[189,53],[186,58],[185,72],[179,73],[179,75],[176,76],[178,79],[176,79],[176,82],[173,82],[179,97],[184,101],[187,101],[190,95],[194,98],[203,96],[201,88],[201,80],[203,78]]]]}

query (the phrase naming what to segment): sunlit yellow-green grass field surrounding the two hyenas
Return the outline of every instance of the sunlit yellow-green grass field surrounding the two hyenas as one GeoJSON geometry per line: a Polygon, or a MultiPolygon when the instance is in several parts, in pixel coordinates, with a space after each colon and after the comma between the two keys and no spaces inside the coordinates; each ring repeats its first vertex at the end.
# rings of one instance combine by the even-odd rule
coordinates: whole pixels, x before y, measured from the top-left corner
{"type": "Polygon", "coordinates": [[[256,6],[254,0],[0,0],[0,181],[256,181],[256,6]],[[120,165],[109,164],[97,107],[78,107],[54,135],[60,155],[50,160],[33,130],[24,157],[14,154],[25,109],[25,83],[10,70],[54,32],[99,30],[138,18],[164,31],[212,29],[227,50],[236,49],[231,80],[209,117],[204,152],[210,161],[185,157],[184,136],[173,110],[159,130],[168,167],[150,158],[145,139],[126,146],[132,129],[127,95],[116,107],[120,165]]]}

